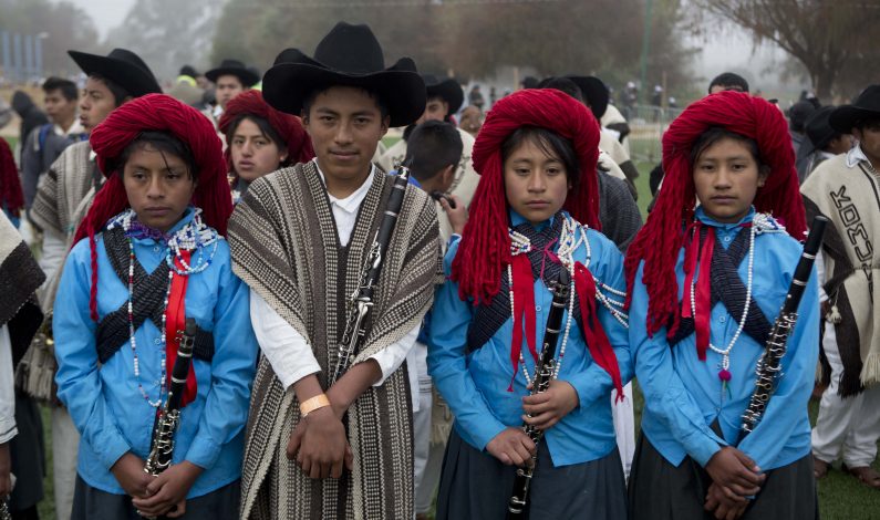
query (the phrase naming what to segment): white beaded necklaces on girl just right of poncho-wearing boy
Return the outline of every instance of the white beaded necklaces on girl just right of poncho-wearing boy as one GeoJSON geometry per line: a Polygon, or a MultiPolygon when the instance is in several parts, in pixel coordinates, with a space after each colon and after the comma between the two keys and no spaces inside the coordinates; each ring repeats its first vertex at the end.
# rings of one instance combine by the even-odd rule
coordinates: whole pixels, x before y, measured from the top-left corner
{"type": "MultiPolygon", "coordinates": [[[[557,250],[557,258],[559,258],[559,262],[562,264],[562,268],[569,272],[569,298],[568,298],[568,316],[566,318],[566,330],[562,333],[562,341],[559,345],[559,354],[557,354],[557,363],[556,368],[553,370],[553,379],[559,377],[559,370],[562,366],[562,358],[566,355],[566,346],[568,344],[569,333],[571,332],[571,320],[574,315],[574,251],[583,245],[587,249],[587,259],[583,262],[583,266],[589,268],[590,267],[590,259],[592,258],[592,250],[590,248],[590,241],[587,239],[587,225],[579,225],[574,221],[571,217],[568,216],[560,216],[558,218],[562,218],[562,231],[559,236],[559,248],[557,250]],[[580,232],[578,232],[580,230],[580,232]]],[[[510,236],[510,254],[516,257],[518,254],[528,253],[534,250],[534,246],[528,237],[525,235],[515,231],[510,228],[507,230],[508,235],[510,236]]],[[[508,281],[508,295],[510,298],[510,315],[515,315],[514,311],[514,270],[511,264],[507,266],[507,281],[508,281]]],[[[593,281],[596,282],[596,298],[599,300],[610,312],[614,319],[620,322],[623,326],[629,327],[629,316],[622,311],[623,310],[623,301],[613,300],[608,298],[600,291],[600,288],[605,290],[607,292],[625,299],[627,293],[624,291],[619,291],[614,288],[605,285],[602,283],[598,278],[593,277],[593,281]]],[[[522,355],[522,352],[519,353],[519,364],[522,367],[522,375],[526,376],[526,383],[531,384],[531,375],[526,367],[526,360],[522,355]]]]}

